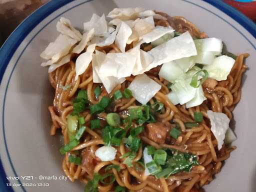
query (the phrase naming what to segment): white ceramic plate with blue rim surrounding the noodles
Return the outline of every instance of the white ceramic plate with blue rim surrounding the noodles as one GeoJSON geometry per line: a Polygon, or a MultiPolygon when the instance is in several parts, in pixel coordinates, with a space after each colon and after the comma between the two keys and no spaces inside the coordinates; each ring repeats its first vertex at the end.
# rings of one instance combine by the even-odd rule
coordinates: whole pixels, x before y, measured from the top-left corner
{"type": "Polygon", "coordinates": [[[256,191],[256,26],[220,0],[52,0],[32,13],[0,49],[0,191],[83,191],[79,181],[58,177],[64,175],[60,144],[57,136],[49,136],[47,111],[52,88],[47,69],[40,66],[39,53],[56,38],[60,16],[82,28],[94,12],[135,6],[185,16],[209,36],[223,39],[229,51],[250,53],[242,99],[232,123],[237,149],[205,189],[256,191]],[[40,175],[58,179],[40,180],[40,175]]]}

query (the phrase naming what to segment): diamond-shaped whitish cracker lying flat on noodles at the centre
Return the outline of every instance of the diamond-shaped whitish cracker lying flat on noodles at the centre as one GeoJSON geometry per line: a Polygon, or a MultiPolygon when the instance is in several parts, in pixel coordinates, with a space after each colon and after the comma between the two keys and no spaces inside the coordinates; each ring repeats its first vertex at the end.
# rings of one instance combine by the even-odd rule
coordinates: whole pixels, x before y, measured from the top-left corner
{"type": "Polygon", "coordinates": [[[131,81],[128,89],[131,90],[132,96],[138,102],[146,104],[161,89],[161,85],[146,74],[139,74],[131,81]]]}

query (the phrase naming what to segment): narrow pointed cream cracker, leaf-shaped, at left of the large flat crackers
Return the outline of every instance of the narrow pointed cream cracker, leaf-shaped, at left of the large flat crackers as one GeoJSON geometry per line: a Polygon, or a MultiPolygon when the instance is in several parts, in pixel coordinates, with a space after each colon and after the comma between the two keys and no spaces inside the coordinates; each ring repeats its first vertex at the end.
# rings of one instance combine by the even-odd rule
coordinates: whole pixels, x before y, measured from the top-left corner
{"type": "Polygon", "coordinates": [[[91,44],[87,47],[86,52],[80,54],[75,60],[75,80],[77,80],[78,75],[82,74],[92,59],[92,53],[95,50],[96,44],[91,44]]]}

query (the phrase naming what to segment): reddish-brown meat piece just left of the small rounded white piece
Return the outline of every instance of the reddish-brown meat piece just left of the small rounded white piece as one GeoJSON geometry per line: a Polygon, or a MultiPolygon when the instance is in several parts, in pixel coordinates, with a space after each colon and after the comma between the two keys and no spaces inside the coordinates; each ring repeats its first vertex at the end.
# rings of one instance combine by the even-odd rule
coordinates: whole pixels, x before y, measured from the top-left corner
{"type": "Polygon", "coordinates": [[[92,151],[89,147],[85,148],[81,152],[82,161],[81,165],[85,168],[86,172],[92,177],[96,160],[93,158],[92,151]]]}

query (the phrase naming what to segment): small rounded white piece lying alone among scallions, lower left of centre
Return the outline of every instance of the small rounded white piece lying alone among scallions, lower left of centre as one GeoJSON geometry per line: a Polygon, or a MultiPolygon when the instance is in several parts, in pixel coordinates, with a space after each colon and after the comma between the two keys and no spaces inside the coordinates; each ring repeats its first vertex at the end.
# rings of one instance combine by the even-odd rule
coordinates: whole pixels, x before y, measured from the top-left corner
{"type": "Polygon", "coordinates": [[[95,155],[101,161],[114,160],[116,149],[112,146],[101,146],[95,151],[95,155]]]}

